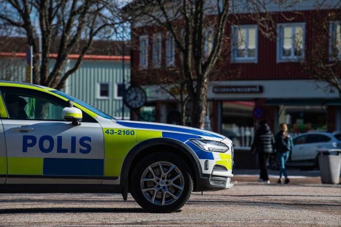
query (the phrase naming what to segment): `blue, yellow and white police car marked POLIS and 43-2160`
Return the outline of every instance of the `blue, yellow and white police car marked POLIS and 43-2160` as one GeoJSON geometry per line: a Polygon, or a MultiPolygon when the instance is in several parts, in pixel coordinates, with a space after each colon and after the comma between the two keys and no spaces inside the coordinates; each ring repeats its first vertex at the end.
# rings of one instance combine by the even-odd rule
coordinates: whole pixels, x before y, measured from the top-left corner
{"type": "Polygon", "coordinates": [[[174,212],[192,191],[231,188],[232,141],[182,126],[117,120],[68,94],[0,81],[0,193],[128,192],[174,212]]]}

